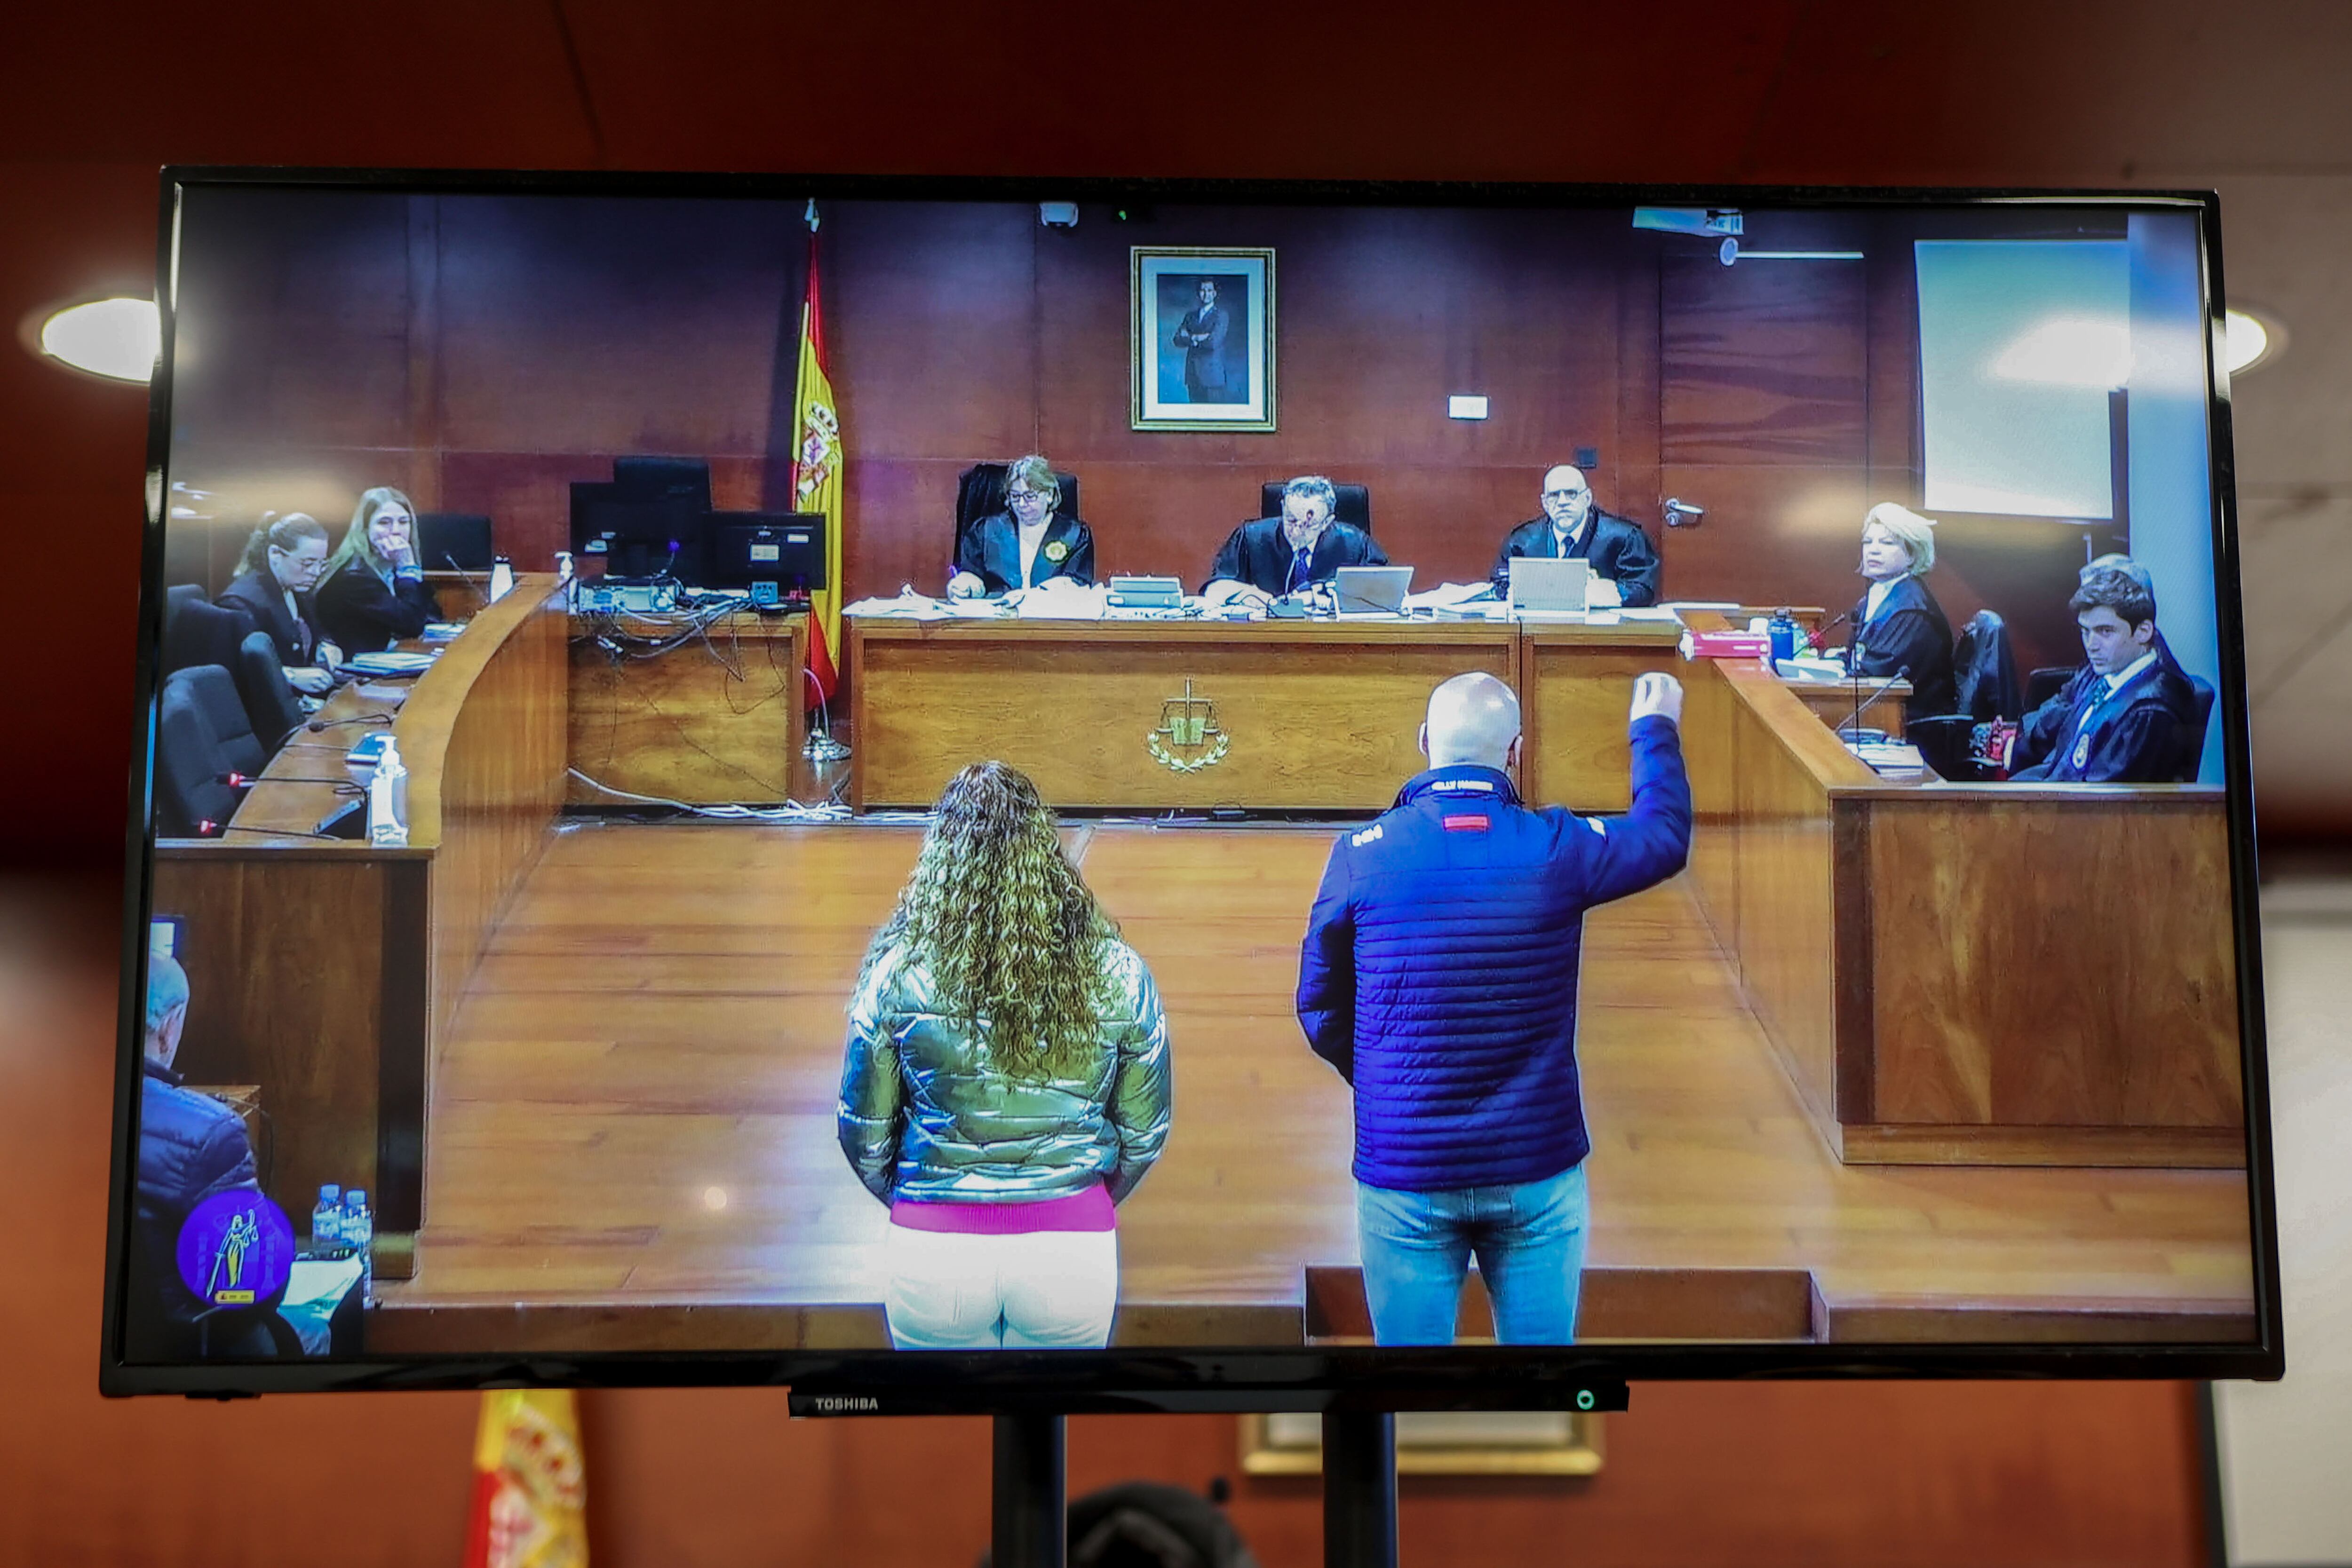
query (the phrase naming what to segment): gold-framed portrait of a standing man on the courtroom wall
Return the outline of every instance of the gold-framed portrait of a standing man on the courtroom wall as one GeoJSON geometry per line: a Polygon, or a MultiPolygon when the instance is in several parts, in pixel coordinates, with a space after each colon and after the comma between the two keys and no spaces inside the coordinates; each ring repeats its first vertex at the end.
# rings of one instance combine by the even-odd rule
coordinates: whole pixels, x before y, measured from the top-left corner
{"type": "Polygon", "coordinates": [[[1129,252],[1129,423],[1275,428],[1275,252],[1129,252]]]}

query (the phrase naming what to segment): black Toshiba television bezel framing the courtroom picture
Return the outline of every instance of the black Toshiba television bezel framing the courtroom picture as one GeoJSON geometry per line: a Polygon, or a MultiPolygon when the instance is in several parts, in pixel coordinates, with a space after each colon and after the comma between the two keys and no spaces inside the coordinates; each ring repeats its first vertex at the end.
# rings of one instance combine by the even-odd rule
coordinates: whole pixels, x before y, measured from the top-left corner
{"type": "MultiPolygon", "coordinates": [[[[1472,181],[1216,181],[903,174],[604,174],[487,169],[268,169],[165,167],[158,212],[162,348],[148,402],[146,527],[141,536],[136,701],[132,710],[129,820],[125,825],[122,997],[108,1187],[108,1253],[99,1387],[111,1396],[252,1396],[348,1389],[480,1387],[776,1387],[828,1392],[861,1413],[1040,1410],[1534,1410],[1576,1408],[1578,1392],[1642,1380],[1726,1378],[2279,1378],[2284,1326],[2270,1152],[2263,966],[2256,919],[2253,785],[2246,738],[2246,654],[2239,604],[2237,487],[2223,343],[2220,200],[2211,190],[2086,188],[1844,188],[1844,186],[1597,186],[1472,181]],[[1075,200],[1150,212],[1157,205],[1287,207],[2114,207],[2194,212],[2204,261],[2206,409],[2213,508],[2216,635],[2220,644],[2223,764],[2230,896],[2239,980],[2239,1063],[2246,1110],[2246,1201],[2258,1338],[2246,1345],[1573,1345],[1510,1349],[1456,1345],[1202,1347],[1101,1352],[581,1352],[506,1356],[353,1356],[263,1363],[134,1363],[122,1359],[129,1267],[132,1140],[139,1093],[139,987],[153,889],[153,736],[165,614],[169,517],[174,280],[181,209],[195,188],[402,195],[548,195],[666,200],[1075,200]],[[870,1401],[870,1403],[868,1403],[870,1401]]],[[[1590,1406],[1588,1406],[1590,1408],[1590,1406]]],[[[1604,1396],[1606,1408],[1606,1396],[1604,1396]]]]}

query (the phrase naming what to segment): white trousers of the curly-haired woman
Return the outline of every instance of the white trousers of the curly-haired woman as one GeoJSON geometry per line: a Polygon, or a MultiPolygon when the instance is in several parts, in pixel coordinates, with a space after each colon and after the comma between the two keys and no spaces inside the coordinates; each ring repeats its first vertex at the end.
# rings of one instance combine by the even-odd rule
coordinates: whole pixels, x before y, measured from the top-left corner
{"type": "Polygon", "coordinates": [[[1101,1349],[1120,1305],[1120,1232],[1016,1237],[889,1227],[882,1307],[898,1349],[1101,1349]]]}

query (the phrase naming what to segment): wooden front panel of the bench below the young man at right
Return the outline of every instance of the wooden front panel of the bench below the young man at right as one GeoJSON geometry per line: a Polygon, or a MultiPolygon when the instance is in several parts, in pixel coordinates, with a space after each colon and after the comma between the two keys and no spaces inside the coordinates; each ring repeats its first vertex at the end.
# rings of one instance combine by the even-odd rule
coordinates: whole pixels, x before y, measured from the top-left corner
{"type": "Polygon", "coordinates": [[[1943,788],[1872,802],[1867,849],[1877,1121],[2234,1135],[2218,792],[1943,788]]]}

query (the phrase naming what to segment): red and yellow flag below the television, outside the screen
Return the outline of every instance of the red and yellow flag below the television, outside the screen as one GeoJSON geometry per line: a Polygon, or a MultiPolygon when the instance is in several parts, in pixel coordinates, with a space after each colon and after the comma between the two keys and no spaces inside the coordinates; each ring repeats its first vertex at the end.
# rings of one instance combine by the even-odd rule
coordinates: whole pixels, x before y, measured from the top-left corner
{"type": "Polygon", "coordinates": [[[572,1389],[482,1394],[466,1568],[586,1568],[586,1502],[572,1389]]]}

